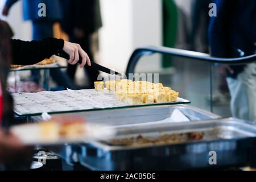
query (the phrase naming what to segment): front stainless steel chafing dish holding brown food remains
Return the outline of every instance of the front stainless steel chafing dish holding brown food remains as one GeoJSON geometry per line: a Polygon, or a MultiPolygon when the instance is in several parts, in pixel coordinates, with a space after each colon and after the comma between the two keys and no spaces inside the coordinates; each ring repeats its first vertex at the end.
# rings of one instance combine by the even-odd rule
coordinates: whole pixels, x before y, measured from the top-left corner
{"type": "Polygon", "coordinates": [[[106,142],[81,144],[79,161],[96,170],[180,170],[250,165],[256,125],[238,119],[217,119],[143,127],[119,127],[117,138],[136,135],[200,131],[203,140],[144,147],[111,146],[106,142]],[[216,165],[209,163],[216,152],[216,165]]]}

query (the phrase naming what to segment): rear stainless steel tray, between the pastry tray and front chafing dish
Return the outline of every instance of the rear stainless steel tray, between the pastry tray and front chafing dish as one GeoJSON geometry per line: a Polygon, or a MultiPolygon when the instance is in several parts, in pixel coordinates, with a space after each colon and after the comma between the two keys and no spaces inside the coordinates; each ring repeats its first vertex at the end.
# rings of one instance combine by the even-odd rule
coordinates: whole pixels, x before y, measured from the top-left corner
{"type": "MultiPolygon", "coordinates": [[[[139,107],[129,109],[113,109],[113,110],[102,110],[102,111],[86,111],[82,113],[72,113],[72,115],[79,115],[86,118],[88,123],[101,123],[105,125],[111,125],[119,128],[121,131],[122,127],[144,127],[144,125],[159,125],[160,120],[166,119],[172,115],[175,109],[179,109],[183,114],[191,121],[201,121],[209,119],[217,119],[220,116],[197,109],[196,107],[188,105],[176,105],[176,106],[151,106],[151,107],[139,107]]],[[[62,116],[65,114],[61,114],[62,116]]],[[[67,114],[69,115],[69,114],[67,114]]],[[[42,117],[32,117],[33,122],[42,121],[42,117]]],[[[163,123],[161,123],[163,125],[163,123]]],[[[55,146],[47,148],[53,152],[56,152],[61,158],[65,159],[67,163],[78,163],[77,154],[81,154],[81,147],[76,144],[67,144],[65,146],[55,146]],[[73,157],[75,156],[75,157],[73,157]]],[[[84,148],[84,146],[82,146],[84,148]]],[[[82,159],[82,161],[84,161],[82,159]]]]}

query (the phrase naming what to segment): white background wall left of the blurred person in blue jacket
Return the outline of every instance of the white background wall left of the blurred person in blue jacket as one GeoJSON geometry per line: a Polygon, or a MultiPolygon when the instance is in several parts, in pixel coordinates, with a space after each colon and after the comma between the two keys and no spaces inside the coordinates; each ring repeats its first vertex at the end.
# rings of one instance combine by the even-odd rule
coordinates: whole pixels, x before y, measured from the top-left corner
{"type": "Polygon", "coordinates": [[[2,16],[2,7],[5,3],[5,0],[0,0],[0,18],[7,20],[10,26],[13,28],[15,33],[15,39],[22,40],[31,40],[31,23],[23,21],[23,13],[22,13],[22,1],[16,2],[13,7],[11,7],[10,14],[7,17],[2,16]]]}

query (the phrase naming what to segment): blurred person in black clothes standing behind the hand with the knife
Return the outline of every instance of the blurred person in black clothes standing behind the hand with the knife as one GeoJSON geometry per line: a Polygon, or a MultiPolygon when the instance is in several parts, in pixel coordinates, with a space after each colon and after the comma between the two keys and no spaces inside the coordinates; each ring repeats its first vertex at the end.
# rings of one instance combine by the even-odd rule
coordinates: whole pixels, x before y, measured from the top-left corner
{"type": "MultiPolygon", "coordinates": [[[[69,41],[80,44],[82,49],[92,59],[90,49],[90,36],[101,26],[100,2],[98,0],[63,0],[63,14],[61,27],[68,34],[69,41]]],[[[75,80],[76,65],[68,65],[67,73],[72,80],[75,80]]],[[[86,89],[94,88],[94,81],[97,81],[98,71],[84,67],[89,79],[86,89]]]]}

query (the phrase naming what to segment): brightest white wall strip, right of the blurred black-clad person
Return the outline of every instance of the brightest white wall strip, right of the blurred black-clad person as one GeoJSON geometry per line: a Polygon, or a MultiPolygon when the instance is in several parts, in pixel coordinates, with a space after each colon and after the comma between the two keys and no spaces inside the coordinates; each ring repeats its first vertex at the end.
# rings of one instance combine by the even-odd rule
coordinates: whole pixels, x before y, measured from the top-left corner
{"type": "Polygon", "coordinates": [[[131,0],[101,0],[100,62],[118,71],[131,54],[131,0]]]}

